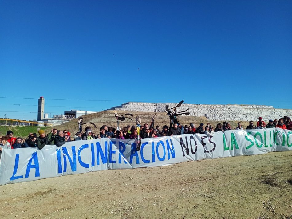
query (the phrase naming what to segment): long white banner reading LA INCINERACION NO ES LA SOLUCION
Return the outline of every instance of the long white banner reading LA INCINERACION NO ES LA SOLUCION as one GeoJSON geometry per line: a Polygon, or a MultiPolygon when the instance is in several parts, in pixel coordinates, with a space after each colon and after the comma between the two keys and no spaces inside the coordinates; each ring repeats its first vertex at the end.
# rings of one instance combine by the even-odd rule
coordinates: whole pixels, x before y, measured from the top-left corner
{"type": "Polygon", "coordinates": [[[292,131],[280,128],[142,139],[72,141],[61,147],[3,149],[0,185],[99,170],[166,166],[186,161],[292,150],[292,131]]]}

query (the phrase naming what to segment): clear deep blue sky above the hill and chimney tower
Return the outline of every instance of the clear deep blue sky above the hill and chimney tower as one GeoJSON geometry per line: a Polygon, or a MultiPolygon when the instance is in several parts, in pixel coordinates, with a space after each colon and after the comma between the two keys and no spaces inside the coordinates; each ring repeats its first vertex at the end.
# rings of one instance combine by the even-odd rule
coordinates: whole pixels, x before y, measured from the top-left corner
{"type": "Polygon", "coordinates": [[[49,115],[128,101],[291,109],[291,11],[292,1],[1,0],[0,117],[36,119],[40,96],[49,115]]]}

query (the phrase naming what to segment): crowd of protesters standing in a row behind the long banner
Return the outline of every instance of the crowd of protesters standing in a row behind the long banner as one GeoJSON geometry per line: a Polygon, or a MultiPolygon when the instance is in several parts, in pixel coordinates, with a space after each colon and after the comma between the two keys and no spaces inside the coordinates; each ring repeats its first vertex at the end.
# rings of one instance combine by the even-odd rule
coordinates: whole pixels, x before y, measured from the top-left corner
{"type": "MultiPolygon", "coordinates": [[[[253,121],[249,121],[249,125],[246,129],[266,129],[266,128],[282,128],[292,130],[292,122],[288,116],[274,121],[272,119],[266,124],[262,117],[258,118],[256,125],[253,121]]],[[[238,123],[236,130],[243,129],[241,123],[238,123]]],[[[140,138],[155,138],[160,136],[172,136],[172,135],[182,135],[182,134],[205,134],[210,137],[214,132],[217,131],[228,131],[231,130],[229,122],[223,122],[223,124],[218,123],[213,130],[210,123],[204,127],[203,123],[200,123],[199,127],[196,127],[194,123],[189,123],[189,125],[181,125],[180,123],[174,123],[171,127],[164,125],[162,130],[160,126],[149,127],[147,123],[140,127],[140,138]]],[[[56,145],[57,147],[62,146],[66,142],[78,141],[78,140],[90,140],[90,139],[100,139],[100,138],[116,138],[116,139],[137,139],[138,131],[136,126],[130,126],[122,128],[121,130],[116,130],[115,128],[107,125],[103,125],[100,128],[100,133],[93,133],[90,126],[85,128],[85,132],[76,132],[73,138],[67,130],[57,130],[52,129],[51,132],[46,135],[44,130],[39,130],[37,136],[36,133],[29,133],[27,138],[22,139],[20,137],[16,138],[13,136],[12,131],[7,131],[7,135],[1,137],[0,153],[2,148],[14,149],[14,148],[25,148],[25,147],[35,147],[42,149],[45,145],[56,145]]]]}

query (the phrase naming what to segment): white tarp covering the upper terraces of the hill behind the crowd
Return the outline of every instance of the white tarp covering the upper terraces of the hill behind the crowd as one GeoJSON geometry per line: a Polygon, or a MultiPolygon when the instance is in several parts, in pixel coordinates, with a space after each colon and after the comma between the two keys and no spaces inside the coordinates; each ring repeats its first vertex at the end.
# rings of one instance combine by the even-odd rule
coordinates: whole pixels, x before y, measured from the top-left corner
{"type": "MultiPolygon", "coordinates": [[[[112,107],[109,110],[122,110],[132,112],[165,112],[165,106],[175,107],[177,103],[137,103],[128,102],[120,106],[112,107]]],[[[209,120],[227,121],[258,121],[258,117],[279,119],[284,115],[292,115],[292,110],[275,109],[272,106],[263,105],[207,105],[207,104],[182,104],[178,111],[189,108],[190,116],[204,116],[209,120]]]]}

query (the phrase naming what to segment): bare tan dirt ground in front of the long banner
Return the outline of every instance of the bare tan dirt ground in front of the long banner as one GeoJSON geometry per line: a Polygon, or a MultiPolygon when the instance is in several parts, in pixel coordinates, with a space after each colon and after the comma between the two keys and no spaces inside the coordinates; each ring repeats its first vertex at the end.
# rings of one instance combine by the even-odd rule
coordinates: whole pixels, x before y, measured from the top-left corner
{"type": "Polygon", "coordinates": [[[292,218],[292,151],[0,186],[0,218],[292,218]]]}

